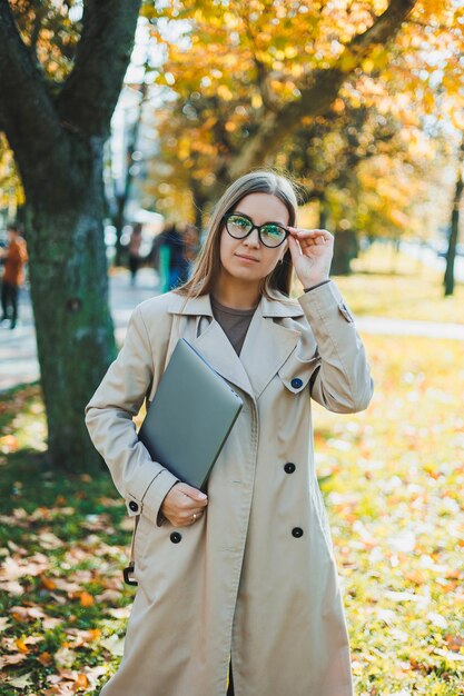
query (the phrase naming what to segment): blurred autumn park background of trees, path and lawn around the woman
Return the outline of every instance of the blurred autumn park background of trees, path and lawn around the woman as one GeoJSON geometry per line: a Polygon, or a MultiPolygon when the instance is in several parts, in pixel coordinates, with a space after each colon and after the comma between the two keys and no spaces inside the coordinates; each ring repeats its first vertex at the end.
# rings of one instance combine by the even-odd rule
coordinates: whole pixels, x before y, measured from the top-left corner
{"type": "Polygon", "coordinates": [[[315,411],[356,694],[464,694],[463,30],[461,0],[1,2],[3,272],[12,221],[29,255],[0,325],[1,694],[117,668],[131,524],[83,406],[263,166],[335,235],[376,384],[315,411]]]}

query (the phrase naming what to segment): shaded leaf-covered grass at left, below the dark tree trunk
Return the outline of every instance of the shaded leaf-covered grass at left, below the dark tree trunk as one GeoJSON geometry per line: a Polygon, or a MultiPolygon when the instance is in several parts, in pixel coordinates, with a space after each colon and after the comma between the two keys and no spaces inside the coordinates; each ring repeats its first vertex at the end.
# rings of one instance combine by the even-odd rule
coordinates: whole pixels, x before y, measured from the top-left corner
{"type": "Polygon", "coordinates": [[[120,573],[131,523],[106,471],[91,478],[48,468],[37,386],[3,399],[0,425],[2,656],[23,656],[3,675],[29,675],[22,686],[1,683],[0,693],[42,694],[53,686],[49,678],[97,693],[101,666],[106,673],[119,658],[122,607],[134,597],[120,573]]]}

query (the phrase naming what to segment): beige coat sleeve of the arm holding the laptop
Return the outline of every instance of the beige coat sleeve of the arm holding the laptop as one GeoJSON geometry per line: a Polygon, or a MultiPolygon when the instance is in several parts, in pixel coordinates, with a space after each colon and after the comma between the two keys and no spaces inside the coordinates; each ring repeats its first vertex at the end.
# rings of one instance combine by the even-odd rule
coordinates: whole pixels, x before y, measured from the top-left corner
{"type": "Polygon", "coordinates": [[[126,500],[128,514],[142,513],[154,524],[161,524],[160,505],[178,479],[151,460],[132,420],[152,376],[151,347],[138,307],[130,318],[121,351],[86,406],[86,425],[126,500]]]}

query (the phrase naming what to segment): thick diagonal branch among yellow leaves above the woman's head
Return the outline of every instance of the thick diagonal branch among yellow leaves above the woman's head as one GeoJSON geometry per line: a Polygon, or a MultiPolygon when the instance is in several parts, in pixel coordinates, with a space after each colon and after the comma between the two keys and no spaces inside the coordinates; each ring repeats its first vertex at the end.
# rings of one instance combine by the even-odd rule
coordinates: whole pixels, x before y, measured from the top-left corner
{"type": "Polygon", "coordinates": [[[299,99],[284,105],[278,113],[265,112],[259,130],[247,140],[238,157],[227,165],[229,177],[235,179],[251,167],[267,163],[269,157],[280,148],[282,140],[295,131],[304,116],[316,117],[327,111],[348,74],[361,64],[374,46],[386,43],[396,36],[416,2],[417,0],[391,0],[374,24],[352,39],[333,68],[317,70],[310,76],[312,81],[302,90],[299,99]],[[344,71],[342,61],[347,54],[355,59],[355,64],[349,71],[344,71]]]}

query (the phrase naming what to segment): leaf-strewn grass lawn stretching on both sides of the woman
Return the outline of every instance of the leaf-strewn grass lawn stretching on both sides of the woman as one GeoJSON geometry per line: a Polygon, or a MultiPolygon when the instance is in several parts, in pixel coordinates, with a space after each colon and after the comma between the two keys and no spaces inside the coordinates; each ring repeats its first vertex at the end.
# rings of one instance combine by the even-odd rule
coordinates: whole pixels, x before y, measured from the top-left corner
{"type": "MultiPolygon", "coordinates": [[[[436,318],[446,316],[440,289],[428,300],[414,275],[362,274],[338,285],[356,314],[388,315],[402,297],[417,297],[405,318],[433,319],[433,302],[436,318]]],[[[381,336],[365,344],[376,382],[369,409],[315,408],[355,693],[462,695],[464,344],[381,336]]],[[[0,693],[98,694],[120,659],[134,598],[120,575],[125,507],[105,471],[48,470],[37,386],[6,396],[0,427],[0,693]]]]}

